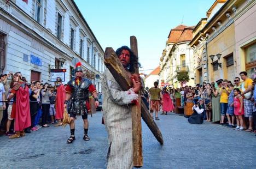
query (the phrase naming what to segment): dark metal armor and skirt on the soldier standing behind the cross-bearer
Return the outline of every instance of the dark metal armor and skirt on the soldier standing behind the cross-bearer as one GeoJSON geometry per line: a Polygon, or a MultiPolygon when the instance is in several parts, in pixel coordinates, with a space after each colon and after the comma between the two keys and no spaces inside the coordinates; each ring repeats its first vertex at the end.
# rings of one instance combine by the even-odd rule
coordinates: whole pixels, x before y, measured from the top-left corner
{"type": "Polygon", "coordinates": [[[92,82],[89,79],[82,78],[80,81],[81,85],[75,85],[75,81],[69,81],[68,85],[72,88],[72,94],[74,94],[75,90],[77,89],[77,92],[71,98],[68,106],[68,112],[81,115],[84,113],[88,113],[88,109],[86,107],[86,100],[89,99],[89,86],[92,84],[92,82]]]}

